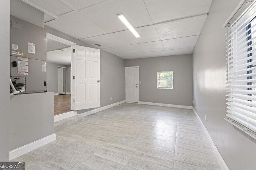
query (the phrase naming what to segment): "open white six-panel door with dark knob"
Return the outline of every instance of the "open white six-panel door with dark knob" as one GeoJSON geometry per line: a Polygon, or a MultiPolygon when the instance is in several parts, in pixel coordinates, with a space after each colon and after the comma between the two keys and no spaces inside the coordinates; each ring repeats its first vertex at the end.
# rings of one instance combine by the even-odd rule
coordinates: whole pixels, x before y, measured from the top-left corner
{"type": "Polygon", "coordinates": [[[100,107],[100,49],[76,45],[74,110],[100,107]]]}

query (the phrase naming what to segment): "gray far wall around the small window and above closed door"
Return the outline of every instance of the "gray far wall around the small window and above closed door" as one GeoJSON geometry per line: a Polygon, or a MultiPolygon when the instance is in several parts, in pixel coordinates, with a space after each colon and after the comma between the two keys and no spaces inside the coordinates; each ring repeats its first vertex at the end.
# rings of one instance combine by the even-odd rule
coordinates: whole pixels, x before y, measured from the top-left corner
{"type": "Polygon", "coordinates": [[[125,66],[140,67],[140,102],[192,106],[192,55],[129,59],[125,66]],[[158,71],[173,71],[173,89],[157,88],[158,71]]]}

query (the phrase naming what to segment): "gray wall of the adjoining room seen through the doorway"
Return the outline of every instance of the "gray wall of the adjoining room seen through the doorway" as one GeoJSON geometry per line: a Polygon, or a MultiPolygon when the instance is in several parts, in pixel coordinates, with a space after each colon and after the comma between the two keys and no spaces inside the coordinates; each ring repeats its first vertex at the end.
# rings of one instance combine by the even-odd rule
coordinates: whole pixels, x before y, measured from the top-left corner
{"type": "MultiPolygon", "coordinates": [[[[58,66],[67,68],[67,92],[69,92],[69,67],[70,65],[62,65],[47,62],[47,92],[58,93],[58,66]]],[[[63,70],[65,72],[65,70],[63,70]]],[[[63,74],[64,76],[64,74],[63,74]]],[[[64,78],[63,78],[64,80],[64,78]]],[[[63,86],[65,92],[65,85],[63,86]]]]}

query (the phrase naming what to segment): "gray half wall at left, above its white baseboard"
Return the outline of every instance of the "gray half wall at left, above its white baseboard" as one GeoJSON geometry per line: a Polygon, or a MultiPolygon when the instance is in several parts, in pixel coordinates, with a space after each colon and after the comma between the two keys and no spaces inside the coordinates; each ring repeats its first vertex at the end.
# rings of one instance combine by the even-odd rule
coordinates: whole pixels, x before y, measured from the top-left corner
{"type": "Polygon", "coordinates": [[[10,150],[54,133],[52,92],[11,96],[10,150]]]}

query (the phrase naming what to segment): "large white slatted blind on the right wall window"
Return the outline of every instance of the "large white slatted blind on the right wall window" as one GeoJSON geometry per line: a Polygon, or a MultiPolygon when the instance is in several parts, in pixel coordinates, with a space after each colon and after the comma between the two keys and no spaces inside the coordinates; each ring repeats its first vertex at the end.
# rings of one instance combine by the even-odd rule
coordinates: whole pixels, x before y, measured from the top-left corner
{"type": "Polygon", "coordinates": [[[256,138],[255,1],[227,28],[226,120],[256,138]]]}

